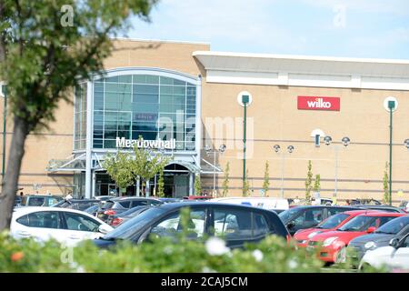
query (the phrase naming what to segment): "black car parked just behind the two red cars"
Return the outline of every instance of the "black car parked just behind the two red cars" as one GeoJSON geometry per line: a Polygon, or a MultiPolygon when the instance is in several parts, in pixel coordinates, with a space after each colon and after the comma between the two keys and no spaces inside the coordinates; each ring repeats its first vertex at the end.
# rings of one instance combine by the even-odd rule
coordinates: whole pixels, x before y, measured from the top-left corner
{"type": "Polygon", "coordinates": [[[359,210],[354,206],[297,206],[280,213],[281,220],[287,226],[291,236],[300,229],[317,226],[329,216],[348,210],[359,210]]]}

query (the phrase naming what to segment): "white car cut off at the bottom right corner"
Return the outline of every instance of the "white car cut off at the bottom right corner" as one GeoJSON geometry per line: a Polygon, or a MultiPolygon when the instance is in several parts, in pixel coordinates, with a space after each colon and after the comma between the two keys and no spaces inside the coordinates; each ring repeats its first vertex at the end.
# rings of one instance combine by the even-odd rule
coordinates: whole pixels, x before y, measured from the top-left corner
{"type": "Polygon", "coordinates": [[[389,246],[367,251],[359,264],[359,269],[364,266],[409,270],[409,234],[401,240],[391,239],[389,246]]]}

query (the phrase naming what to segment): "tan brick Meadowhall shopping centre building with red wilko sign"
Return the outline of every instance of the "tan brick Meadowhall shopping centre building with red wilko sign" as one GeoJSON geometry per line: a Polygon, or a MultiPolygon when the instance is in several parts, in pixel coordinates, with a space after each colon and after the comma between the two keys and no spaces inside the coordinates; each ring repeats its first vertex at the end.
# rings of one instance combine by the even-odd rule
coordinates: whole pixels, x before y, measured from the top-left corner
{"type": "MultiPolygon", "coordinates": [[[[166,196],[193,195],[197,175],[207,193],[220,195],[227,163],[228,195],[240,196],[241,95],[251,102],[251,195],[303,197],[311,160],[321,196],[382,199],[390,137],[384,99],[394,96],[393,199],[409,199],[409,61],[224,53],[208,44],[124,39],[115,40],[104,74],[81,83],[72,104],[61,102],[50,130],[29,135],[19,186],[25,194],[115,194],[102,161],[135,145],[172,157],[166,196]]],[[[156,178],[150,184],[155,193],[156,178]]],[[[136,185],[126,192],[139,194],[136,185]]]]}

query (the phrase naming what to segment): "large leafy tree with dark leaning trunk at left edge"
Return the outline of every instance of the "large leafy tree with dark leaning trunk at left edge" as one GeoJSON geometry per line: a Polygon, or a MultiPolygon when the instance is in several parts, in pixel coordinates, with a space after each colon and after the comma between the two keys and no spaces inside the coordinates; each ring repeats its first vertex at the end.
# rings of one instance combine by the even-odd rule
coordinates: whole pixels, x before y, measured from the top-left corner
{"type": "Polygon", "coordinates": [[[55,120],[79,80],[104,69],[136,15],[157,0],[0,0],[0,79],[7,85],[13,137],[0,195],[0,231],[9,228],[27,135],[55,120]]]}

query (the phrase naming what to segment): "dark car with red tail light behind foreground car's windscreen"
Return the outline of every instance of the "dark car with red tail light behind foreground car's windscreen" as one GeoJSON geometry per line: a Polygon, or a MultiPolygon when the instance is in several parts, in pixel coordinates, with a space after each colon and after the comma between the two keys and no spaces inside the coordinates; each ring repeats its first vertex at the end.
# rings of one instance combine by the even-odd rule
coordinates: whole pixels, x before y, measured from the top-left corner
{"type": "Polygon", "coordinates": [[[118,197],[111,200],[106,200],[105,204],[98,209],[98,218],[106,221],[109,216],[115,216],[123,213],[130,208],[136,206],[158,206],[163,205],[164,202],[147,197],[118,197]]]}

